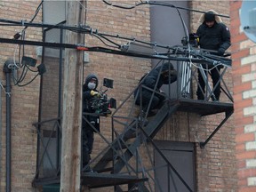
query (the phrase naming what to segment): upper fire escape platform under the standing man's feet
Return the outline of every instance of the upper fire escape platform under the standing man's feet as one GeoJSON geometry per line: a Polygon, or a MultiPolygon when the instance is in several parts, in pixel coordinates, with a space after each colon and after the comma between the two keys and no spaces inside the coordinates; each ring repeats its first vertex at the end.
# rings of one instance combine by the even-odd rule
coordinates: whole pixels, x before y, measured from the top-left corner
{"type": "Polygon", "coordinates": [[[179,99],[174,102],[179,103],[178,111],[196,113],[200,116],[209,116],[234,110],[233,103],[214,102],[205,100],[179,99]]]}

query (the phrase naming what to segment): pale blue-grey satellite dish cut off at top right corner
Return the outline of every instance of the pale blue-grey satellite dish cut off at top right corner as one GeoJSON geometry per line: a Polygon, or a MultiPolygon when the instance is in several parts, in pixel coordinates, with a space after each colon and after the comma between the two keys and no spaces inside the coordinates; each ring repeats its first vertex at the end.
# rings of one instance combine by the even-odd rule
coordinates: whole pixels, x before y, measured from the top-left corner
{"type": "Polygon", "coordinates": [[[256,43],[256,1],[243,1],[240,23],[245,35],[256,43]]]}

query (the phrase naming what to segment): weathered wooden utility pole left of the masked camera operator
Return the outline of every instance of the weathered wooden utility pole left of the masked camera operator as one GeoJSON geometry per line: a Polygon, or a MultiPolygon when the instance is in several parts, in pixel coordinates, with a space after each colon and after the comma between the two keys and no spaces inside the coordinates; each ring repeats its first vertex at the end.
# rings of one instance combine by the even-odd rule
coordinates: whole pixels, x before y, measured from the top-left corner
{"type": "MultiPolygon", "coordinates": [[[[84,24],[84,2],[66,1],[67,25],[84,24]]],[[[82,34],[66,31],[67,44],[81,44],[82,34]]],[[[63,74],[60,192],[80,192],[83,52],[65,50],[63,74]]]]}

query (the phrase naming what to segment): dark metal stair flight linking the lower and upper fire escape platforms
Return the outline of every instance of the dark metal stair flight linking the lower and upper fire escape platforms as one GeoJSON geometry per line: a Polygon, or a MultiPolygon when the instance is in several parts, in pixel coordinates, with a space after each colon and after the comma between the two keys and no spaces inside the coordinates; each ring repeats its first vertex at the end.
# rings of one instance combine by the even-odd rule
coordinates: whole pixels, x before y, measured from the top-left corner
{"type": "Polygon", "coordinates": [[[116,140],[114,140],[108,147],[107,152],[101,157],[100,161],[95,164],[93,170],[96,172],[111,171],[111,173],[121,172],[127,161],[136,153],[136,149],[140,147],[141,137],[154,138],[156,132],[158,132],[162,125],[168,120],[172,113],[178,108],[178,105],[171,105],[167,100],[162,108],[159,109],[156,116],[148,120],[145,124],[139,119],[135,119],[124,128],[124,132],[121,133],[116,140]],[[138,130],[139,132],[136,132],[138,130]],[[131,142],[132,139],[132,142],[131,142]],[[120,156],[121,154],[121,156],[120,156]],[[113,166],[108,167],[109,162],[113,161],[113,166]]]}

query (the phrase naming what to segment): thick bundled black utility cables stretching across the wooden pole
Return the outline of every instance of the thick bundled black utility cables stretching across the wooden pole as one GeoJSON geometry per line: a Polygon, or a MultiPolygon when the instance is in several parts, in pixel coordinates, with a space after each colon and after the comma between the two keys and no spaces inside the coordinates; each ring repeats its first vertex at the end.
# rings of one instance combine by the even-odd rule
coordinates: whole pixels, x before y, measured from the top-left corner
{"type": "MultiPolygon", "coordinates": [[[[183,61],[192,61],[197,63],[206,63],[206,64],[213,64],[213,65],[223,64],[223,65],[227,65],[228,67],[231,66],[230,59],[214,55],[214,51],[212,50],[196,49],[190,46],[180,46],[180,45],[171,46],[169,44],[166,45],[166,44],[157,44],[156,42],[153,42],[153,43],[146,42],[140,39],[136,39],[134,37],[101,33],[99,32],[98,29],[92,29],[86,25],[79,24],[77,26],[70,26],[66,24],[66,21],[53,25],[53,24],[45,24],[45,23],[32,23],[25,20],[0,19],[0,25],[21,26],[21,27],[31,27],[31,28],[65,29],[68,31],[76,32],[76,33],[96,36],[101,41],[101,43],[112,48],[114,47],[116,48],[116,50],[108,49],[100,46],[86,47],[83,44],[80,44],[80,45],[79,44],[58,44],[58,43],[34,42],[34,41],[28,41],[28,40],[26,41],[26,40],[7,39],[7,38],[0,38],[0,43],[30,44],[30,45],[48,46],[52,48],[70,48],[70,49],[77,49],[77,50],[87,51],[87,52],[107,52],[111,54],[119,54],[119,55],[126,55],[126,56],[140,57],[140,58],[147,58],[147,59],[183,60],[183,61]],[[122,40],[123,44],[117,44],[114,41],[114,39],[122,40]],[[107,42],[109,44],[107,44],[107,42]],[[137,49],[129,50],[129,47],[132,48],[132,45],[134,48],[134,44],[136,44],[137,49]],[[126,49],[127,47],[128,49],[126,49]],[[156,52],[156,48],[162,48],[162,50],[165,49],[166,52],[164,53],[156,52]],[[141,49],[144,49],[142,50],[142,53],[140,52],[141,49]],[[145,52],[145,49],[147,50],[146,52],[145,52]],[[149,51],[149,49],[151,49],[151,51],[149,51]],[[180,57],[180,55],[182,55],[182,57],[180,57]]],[[[229,54],[227,56],[229,56],[229,54]]]]}

